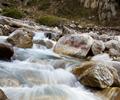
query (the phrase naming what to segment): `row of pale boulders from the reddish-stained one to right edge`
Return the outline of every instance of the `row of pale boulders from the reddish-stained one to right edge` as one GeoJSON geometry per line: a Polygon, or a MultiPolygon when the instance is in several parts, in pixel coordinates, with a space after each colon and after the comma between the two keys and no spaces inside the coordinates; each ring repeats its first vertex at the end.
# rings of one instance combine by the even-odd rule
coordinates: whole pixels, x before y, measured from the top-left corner
{"type": "Polygon", "coordinates": [[[65,35],[60,38],[54,51],[60,54],[75,56],[78,58],[108,53],[110,56],[120,56],[120,36],[98,33],[80,33],[65,35]]]}

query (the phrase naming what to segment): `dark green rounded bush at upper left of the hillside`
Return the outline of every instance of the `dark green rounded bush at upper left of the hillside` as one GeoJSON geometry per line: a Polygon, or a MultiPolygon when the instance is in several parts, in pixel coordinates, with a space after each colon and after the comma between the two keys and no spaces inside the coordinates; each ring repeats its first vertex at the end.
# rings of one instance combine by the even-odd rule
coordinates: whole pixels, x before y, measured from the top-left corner
{"type": "Polygon", "coordinates": [[[24,17],[24,13],[21,10],[18,10],[17,8],[4,8],[2,11],[2,15],[16,19],[24,17]]]}

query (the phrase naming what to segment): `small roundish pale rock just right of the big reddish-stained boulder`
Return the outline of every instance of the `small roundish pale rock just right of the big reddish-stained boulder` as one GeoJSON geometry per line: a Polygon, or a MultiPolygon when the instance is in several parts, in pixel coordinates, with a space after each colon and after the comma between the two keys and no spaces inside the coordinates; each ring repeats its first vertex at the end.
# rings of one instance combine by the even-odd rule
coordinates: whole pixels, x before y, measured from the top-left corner
{"type": "Polygon", "coordinates": [[[91,49],[94,55],[101,54],[105,50],[105,45],[103,41],[95,40],[91,49]]]}

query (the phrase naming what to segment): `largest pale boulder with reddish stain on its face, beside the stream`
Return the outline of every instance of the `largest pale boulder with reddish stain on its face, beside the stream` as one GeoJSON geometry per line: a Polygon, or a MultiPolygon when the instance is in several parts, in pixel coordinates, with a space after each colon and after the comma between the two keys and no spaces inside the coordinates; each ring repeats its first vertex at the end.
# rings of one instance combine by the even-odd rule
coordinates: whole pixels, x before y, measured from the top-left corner
{"type": "Polygon", "coordinates": [[[54,51],[59,54],[65,54],[74,57],[86,57],[93,39],[87,34],[66,35],[59,39],[54,47],[54,51]]]}

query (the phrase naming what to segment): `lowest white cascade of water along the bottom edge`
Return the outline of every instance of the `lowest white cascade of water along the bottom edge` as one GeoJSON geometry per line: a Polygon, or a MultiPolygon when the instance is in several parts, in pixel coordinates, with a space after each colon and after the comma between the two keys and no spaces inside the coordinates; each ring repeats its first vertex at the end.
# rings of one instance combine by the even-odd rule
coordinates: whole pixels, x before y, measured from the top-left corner
{"type": "Polygon", "coordinates": [[[4,88],[3,90],[10,100],[97,100],[97,97],[82,88],[71,88],[66,85],[4,88]]]}

